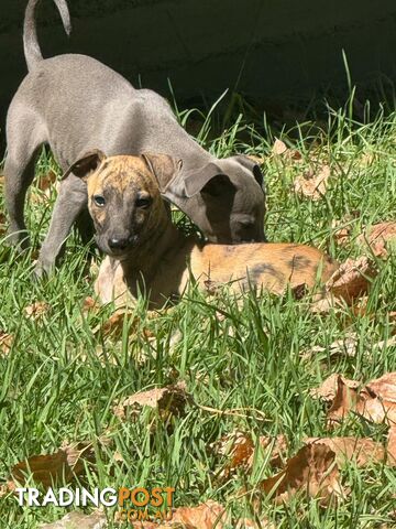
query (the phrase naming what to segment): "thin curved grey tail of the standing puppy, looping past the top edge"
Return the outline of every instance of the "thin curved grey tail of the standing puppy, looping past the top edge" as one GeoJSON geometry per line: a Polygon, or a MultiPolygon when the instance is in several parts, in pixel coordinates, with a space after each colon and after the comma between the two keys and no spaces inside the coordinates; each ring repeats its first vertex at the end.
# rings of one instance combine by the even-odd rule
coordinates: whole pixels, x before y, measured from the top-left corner
{"type": "MultiPolygon", "coordinates": [[[[59,11],[64,29],[67,35],[69,35],[72,31],[72,24],[66,0],[54,0],[54,2],[59,11]]],[[[37,3],[40,3],[40,0],[29,1],[23,23],[23,48],[29,72],[31,72],[37,63],[43,61],[43,55],[38,45],[37,30],[34,17],[37,3]]]]}

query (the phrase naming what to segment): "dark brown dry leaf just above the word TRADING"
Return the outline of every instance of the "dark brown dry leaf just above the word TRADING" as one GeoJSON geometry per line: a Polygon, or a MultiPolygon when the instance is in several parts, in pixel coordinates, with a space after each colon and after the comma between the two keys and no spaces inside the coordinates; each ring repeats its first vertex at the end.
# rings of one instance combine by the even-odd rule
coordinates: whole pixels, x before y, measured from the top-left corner
{"type": "Polygon", "coordinates": [[[77,443],[64,445],[55,454],[33,455],[13,466],[11,478],[25,482],[25,475],[32,474],[36,484],[51,487],[57,479],[68,483],[85,471],[84,461],[92,458],[90,445],[77,443]]]}

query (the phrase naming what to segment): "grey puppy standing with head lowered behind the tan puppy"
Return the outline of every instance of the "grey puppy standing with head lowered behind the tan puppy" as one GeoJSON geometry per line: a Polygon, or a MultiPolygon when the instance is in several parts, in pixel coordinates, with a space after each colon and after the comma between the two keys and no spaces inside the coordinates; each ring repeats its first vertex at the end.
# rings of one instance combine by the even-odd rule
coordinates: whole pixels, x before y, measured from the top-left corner
{"type": "MultiPolygon", "coordinates": [[[[212,242],[265,240],[265,196],[258,165],[242,155],[216,159],[178,125],[165,99],[152,90],[133,88],[95,58],[67,54],[43,60],[34,19],[38,2],[28,3],[23,43],[29,74],[7,117],[4,176],[11,242],[29,244],[24,201],[34,177],[35,154],[43,144],[51,147],[64,171],[94,148],[108,155],[164,152],[179,158],[183,170],[177,177],[158,182],[167,201],[185,212],[212,242]]],[[[54,2],[69,33],[66,1],[54,2]]],[[[86,184],[70,173],[61,184],[37,274],[54,267],[76,220],[88,241],[92,231],[86,184]]]]}

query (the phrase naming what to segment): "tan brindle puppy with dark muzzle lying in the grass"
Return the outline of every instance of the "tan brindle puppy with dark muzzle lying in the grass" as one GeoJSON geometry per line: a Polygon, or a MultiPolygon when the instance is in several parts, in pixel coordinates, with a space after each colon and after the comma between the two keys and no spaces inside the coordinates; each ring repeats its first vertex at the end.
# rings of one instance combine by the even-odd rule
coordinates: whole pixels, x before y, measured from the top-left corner
{"type": "Polygon", "coordinates": [[[179,296],[193,277],[204,289],[230,283],[276,294],[314,287],[338,268],[320,250],[294,244],[202,245],[170,222],[157,181],[172,181],[180,162],[165,154],[106,158],[88,153],[69,171],[87,180],[98,246],[108,253],[96,292],[102,302],[134,302],[146,292],[152,307],[179,296]]]}

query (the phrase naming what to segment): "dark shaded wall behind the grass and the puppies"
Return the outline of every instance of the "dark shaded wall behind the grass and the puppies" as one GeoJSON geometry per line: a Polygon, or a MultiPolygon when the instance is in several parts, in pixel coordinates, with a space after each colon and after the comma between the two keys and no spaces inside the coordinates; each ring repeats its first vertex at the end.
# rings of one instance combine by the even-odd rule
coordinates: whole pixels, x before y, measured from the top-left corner
{"type": "MultiPolygon", "coordinates": [[[[25,74],[26,0],[0,0],[0,123],[25,74]]],[[[133,84],[178,100],[226,88],[258,106],[306,104],[345,89],[342,48],[362,87],[396,79],[395,0],[69,0],[73,34],[51,0],[40,7],[45,56],[78,52],[111,65],[133,84]]]]}

